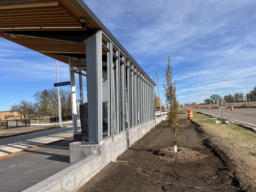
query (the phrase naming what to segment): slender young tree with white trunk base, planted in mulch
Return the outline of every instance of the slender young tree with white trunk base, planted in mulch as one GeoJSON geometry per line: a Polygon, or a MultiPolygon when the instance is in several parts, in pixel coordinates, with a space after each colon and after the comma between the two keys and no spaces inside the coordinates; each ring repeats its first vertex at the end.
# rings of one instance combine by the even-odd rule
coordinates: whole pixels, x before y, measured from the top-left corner
{"type": "Polygon", "coordinates": [[[168,123],[172,129],[172,138],[174,138],[174,151],[177,151],[177,145],[181,141],[179,134],[179,103],[176,96],[176,81],[172,82],[172,67],[170,66],[170,56],[168,56],[168,65],[165,70],[165,82],[163,87],[165,89],[165,98],[169,106],[168,123]]]}

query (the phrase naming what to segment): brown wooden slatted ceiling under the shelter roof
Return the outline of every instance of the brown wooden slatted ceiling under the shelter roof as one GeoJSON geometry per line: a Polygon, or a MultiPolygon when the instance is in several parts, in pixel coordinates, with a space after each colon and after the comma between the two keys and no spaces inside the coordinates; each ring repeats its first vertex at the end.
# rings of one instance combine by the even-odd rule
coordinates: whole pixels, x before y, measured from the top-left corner
{"type": "Polygon", "coordinates": [[[0,0],[0,37],[68,63],[101,29],[90,15],[77,0],[0,0]]]}

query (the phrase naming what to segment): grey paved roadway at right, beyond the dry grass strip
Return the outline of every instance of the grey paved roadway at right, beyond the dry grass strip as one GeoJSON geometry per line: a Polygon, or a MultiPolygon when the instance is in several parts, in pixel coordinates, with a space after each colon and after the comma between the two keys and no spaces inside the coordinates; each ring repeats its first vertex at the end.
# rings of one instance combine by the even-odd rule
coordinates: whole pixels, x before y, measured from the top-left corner
{"type": "MultiPolygon", "coordinates": [[[[200,110],[195,108],[193,111],[200,111],[221,118],[221,111],[218,108],[211,108],[210,110],[207,108],[200,110]]],[[[256,127],[256,108],[234,108],[233,111],[231,111],[230,108],[228,108],[228,110],[227,108],[223,108],[222,117],[224,119],[229,119],[240,124],[256,127]]]]}

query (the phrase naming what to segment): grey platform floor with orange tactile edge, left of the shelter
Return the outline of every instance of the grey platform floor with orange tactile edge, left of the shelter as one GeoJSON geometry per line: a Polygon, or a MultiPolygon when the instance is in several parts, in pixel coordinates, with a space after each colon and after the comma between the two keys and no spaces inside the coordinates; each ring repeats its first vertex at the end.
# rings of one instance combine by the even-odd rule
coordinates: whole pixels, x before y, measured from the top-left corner
{"type": "Polygon", "coordinates": [[[25,153],[21,151],[0,161],[1,191],[19,192],[72,165],[69,161],[69,143],[72,142],[61,141],[25,153]]]}

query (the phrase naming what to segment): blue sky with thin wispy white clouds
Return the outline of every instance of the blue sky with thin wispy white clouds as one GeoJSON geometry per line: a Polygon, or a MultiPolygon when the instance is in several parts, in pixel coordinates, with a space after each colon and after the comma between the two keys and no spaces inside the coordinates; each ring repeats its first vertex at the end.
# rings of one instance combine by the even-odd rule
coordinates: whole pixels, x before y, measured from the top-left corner
{"type": "MultiPolygon", "coordinates": [[[[256,86],[254,0],[84,0],[126,50],[157,82],[163,103],[167,56],[171,56],[177,99],[201,102],[212,94],[247,93],[256,86]]],[[[0,111],[36,91],[53,88],[56,63],[0,38],[0,111]]],[[[59,62],[60,82],[69,80],[59,62]]],[[[61,87],[61,88],[64,88],[61,87]]],[[[158,93],[157,87],[155,92],[158,93]]]]}

